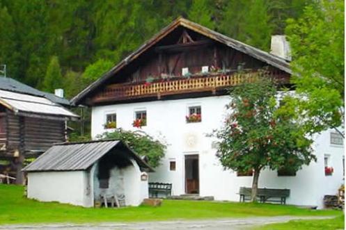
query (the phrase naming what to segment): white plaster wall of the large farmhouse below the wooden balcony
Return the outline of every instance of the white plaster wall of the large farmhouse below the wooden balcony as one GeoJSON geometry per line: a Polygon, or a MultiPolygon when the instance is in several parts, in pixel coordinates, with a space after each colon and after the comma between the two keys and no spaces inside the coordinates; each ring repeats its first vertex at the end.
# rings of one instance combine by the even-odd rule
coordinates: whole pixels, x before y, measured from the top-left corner
{"type": "MultiPolygon", "coordinates": [[[[107,113],[117,114],[117,126],[127,130],[143,130],[167,144],[166,156],[150,181],[173,183],[173,195],[184,194],[184,155],[198,154],[200,169],[200,195],[213,195],[219,200],[239,200],[239,186],[251,186],[251,176],[237,177],[234,172],[224,171],[212,149],[212,138],[205,135],[221,126],[225,118],[228,96],[200,97],[167,101],[149,101],[133,104],[118,104],[93,107],[91,134],[104,133],[103,124],[107,113]],[[201,106],[202,122],[185,121],[189,106],[201,106]],[[134,112],[147,111],[147,126],[132,127],[134,112]],[[176,170],[169,170],[169,161],[176,161],[176,170]]],[[[334,194],[343,182],[343,147],[329,144],[329,131],[317,136],[315,154],[317,163],[304,166],[297,176],[277,176],[265,170],[260,175],[260,187],[289,188],[288,204],[317,205],[322,207],[323,195],[334,194]],[[324,154],[331,154],[333,176],[324,176],[324,154]]]]}

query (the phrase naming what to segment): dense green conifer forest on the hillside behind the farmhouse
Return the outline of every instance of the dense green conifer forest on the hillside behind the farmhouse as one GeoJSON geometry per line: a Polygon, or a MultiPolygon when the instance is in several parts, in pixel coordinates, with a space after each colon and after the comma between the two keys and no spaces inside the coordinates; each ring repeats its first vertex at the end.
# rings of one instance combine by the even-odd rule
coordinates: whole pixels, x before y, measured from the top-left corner
{"type": "Polygon", "coordinates": [[[0,0],[7,76],[71,98],[182,16],[269,51],[313,0],[0,0]]]}

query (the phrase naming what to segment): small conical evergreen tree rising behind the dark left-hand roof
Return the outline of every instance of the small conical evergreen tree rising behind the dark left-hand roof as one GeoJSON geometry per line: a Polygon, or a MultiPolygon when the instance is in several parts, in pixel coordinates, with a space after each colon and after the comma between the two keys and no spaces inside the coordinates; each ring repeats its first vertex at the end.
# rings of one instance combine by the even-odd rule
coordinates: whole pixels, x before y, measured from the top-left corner
{"type": "Polygon", "coordinates": [[[54,92],[54,89],[63,87],[63,76],[61,75],[61,69],[57,56],[52,56],[45,79],[43,80],[44,90],[47,92],[54,92]]]}

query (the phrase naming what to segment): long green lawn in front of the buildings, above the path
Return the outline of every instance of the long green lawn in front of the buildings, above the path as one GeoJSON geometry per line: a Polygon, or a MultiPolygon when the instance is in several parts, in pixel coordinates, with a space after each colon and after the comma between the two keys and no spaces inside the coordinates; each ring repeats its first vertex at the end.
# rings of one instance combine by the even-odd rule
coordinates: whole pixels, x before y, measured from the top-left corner
{"type": "Polygon", "coordinates": [[[341,215],[341,213],[340,211],[313,211],[277,204],[177,200],[164,200],[160,207],[82,208],[26,199],[23,197],[22,186],[0,185],[0,224],[136,222],[275,215],[341,215]]]}

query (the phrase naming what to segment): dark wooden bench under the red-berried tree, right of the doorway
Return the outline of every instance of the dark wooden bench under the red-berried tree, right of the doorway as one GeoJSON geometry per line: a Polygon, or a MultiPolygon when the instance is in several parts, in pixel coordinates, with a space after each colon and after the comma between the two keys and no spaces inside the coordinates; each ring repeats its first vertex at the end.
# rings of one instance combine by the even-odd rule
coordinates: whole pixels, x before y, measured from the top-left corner
{"type": "MultiPolygon", "coordinates": [[[[240,187],[239,188],[239,202],[251,199],[252,188],[240,187]]],[[[257,197],[260,198],[261,203],[265,202],[280,202],[286,204],[286,198],[290,197],[289,189],[274,189],[274,188],[258,188],[257,197]]]]}

